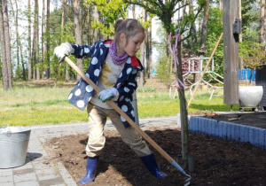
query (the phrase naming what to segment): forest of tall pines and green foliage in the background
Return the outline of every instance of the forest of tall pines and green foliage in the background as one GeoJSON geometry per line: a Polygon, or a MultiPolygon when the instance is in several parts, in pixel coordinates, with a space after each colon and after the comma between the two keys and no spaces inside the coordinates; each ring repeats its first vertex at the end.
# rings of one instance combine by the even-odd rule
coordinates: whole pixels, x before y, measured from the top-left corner
{"type": "MultiPolygon", "coordinates": [[[[245,53],[255,44],[265,44],[265,0],[239,2],[239,42],[245,53]]],[[[145,27],[146,39],[137,54],[145,66],[139,75],[140,87],[145,78],[151,78],[153,68],[161,76],[169,77],[173,72],[167,43],[176,27],[183,38],[184,56],[208,57],[223,32],[222,0],[27,0],[27,4],[22,0],[1,0],[0,11],[0,78],[4,89],[12,89],[12,81],[79,78],[66,63],[59,64],[53,49],[65,42],[91,45],[112,38],[116,19],[139,19],[145,27]],[[159,41],[153,40],[154,19],[161,22],[156,32],[159,41]],[[152,58],[153,49],[160,58],[152,58]]],[[[215,69],[223,75],[223,43],[214,58],[215,69]]],[[[89,59],[72,60],[81,69],[90,65],[89,59]]],[[[239,64],[245,67],[243,62],[239,64]]]]}

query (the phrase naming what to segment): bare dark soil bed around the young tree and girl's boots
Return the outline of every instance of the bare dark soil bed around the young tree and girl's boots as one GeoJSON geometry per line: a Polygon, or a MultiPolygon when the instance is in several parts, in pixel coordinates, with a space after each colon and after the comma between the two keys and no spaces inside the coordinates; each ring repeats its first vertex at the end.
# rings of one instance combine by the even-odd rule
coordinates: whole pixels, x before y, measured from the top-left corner
{"type": "MultiPolygon", "coordinates": [[[[212,117],[212,116],[211,116],[212,117]]],[[[181,132],[178,129],[150,127],[148,136],[182,162],[181,132]]],[[[121,141],[116,130],[106,130],[106,147],[99,159],[97,177],[90,185],[183,185],[186,177],[153,150],[161,170],[168,174],[162,181],[151,175],[137,155],[121,141]]],[[[75,182],[85,174],[85,145],[88,136],[62,136],[46,143],[51,160],[63,163],[75,182]]],[[[191,185],[266,185],[266,151],[250,143],[221,140],[218,137],[190,134],[194,170],[191,185]]],[[[185,168],[187,171],[187,168],[185,168]]]]}

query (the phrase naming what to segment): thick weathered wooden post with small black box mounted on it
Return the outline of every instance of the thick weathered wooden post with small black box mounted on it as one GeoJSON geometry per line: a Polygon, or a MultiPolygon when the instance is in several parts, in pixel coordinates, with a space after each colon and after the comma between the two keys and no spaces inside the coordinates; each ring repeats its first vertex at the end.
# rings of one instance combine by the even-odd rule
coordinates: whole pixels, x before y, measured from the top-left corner
{"type": "Polygon", "coordinates": [[[223,103],[239,104],[239,1],[223,0],[223,103]]]}

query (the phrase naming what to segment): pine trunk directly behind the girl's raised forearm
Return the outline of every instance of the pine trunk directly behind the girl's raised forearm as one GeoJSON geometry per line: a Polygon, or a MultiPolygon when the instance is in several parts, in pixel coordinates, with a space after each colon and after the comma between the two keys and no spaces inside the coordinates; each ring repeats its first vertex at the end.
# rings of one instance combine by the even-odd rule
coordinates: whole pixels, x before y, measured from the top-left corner
{"type": "MultiPolygon", "coordinates": [[[[74,37],[75,37],[75,43],[82,44],[82,35],[81,35],[81,29],[80,29],[80,1],[74,0],[73,4],[74,8],[74,37]]],[[[77,66],[82,70],[83,72],[83,61],[81,58],[77,59],[77,66]]],[[[80,79],[81,76],[78,74],[77,79],[80,79]]]]}

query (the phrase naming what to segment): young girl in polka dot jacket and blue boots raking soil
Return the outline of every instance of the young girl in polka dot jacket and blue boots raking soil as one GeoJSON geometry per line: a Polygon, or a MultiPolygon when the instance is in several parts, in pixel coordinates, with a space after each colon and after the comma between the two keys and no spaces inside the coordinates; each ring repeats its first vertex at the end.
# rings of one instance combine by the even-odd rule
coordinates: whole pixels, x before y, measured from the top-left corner
{"type": "Polygon", "coordinates": [[[81,110],[87,107],[89,114],[87,173],[80,180],[80,184],[87,184],[95,179],[98,159],[106,143],[103,131],[107,117],[112,120],[123,142],[137,153],[154,176],[159,179],[167,176],[160,171],[152,151],[137,131],[105,103],[106,100],[112,99],[123,112],[135,120],[132,94],[137,89],[137,72],[143,70],[136,53],[145,39],[145,29],[136,19],[120,19],[115,23],[114,29],[113,41],[99,41],[91,47],[62,43],[54,50],[60,60],[69,54],[75,58],[91,58],[86,75],[102,89],[96,95],[94,89],[81,79],[68,96],[72,105],[81,110]]]}

